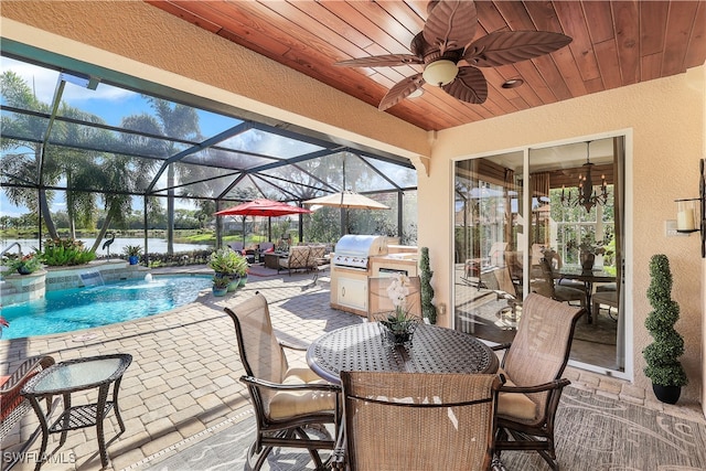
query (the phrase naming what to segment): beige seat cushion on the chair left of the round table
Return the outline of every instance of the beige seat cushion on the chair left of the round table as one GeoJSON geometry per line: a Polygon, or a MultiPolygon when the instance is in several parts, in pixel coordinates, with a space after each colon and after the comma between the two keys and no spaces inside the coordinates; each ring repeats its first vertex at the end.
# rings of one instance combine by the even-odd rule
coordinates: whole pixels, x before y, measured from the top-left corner
{"type": "MultiPolygon", "coordinates": [[[[289,368],[284,384],[327,384],[310,368],[289,368]]],[[[279,390],[269,403],[269,416],[285,419],[317,411],[333,411],[335,394],[322,390],[279,390]]]]}

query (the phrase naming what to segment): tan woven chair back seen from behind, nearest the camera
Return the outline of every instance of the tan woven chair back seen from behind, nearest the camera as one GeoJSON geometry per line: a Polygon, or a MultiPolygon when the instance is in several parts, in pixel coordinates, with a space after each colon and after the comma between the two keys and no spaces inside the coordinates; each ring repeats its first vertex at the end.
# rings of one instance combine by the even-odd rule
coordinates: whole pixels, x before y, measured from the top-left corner
{"type": "Polygon", "coordinates": [[[341,372],[334,469],[486,471],[498,375],[341,372]]]}

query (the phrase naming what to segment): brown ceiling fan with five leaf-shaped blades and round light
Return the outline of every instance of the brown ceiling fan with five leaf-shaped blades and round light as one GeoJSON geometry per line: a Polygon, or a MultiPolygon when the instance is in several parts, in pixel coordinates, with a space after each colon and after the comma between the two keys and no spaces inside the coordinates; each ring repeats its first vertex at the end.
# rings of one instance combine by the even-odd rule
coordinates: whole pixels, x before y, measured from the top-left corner
{"type": "Polygon", "coordinates": [[[385,54],[336,62],[345,67],[391,67],[424,64],[424,72],[395,84],[379,103],[385,110],[421,88],[441,87],[452,97],[471,104],[488,98],[488,82],[477,67],[514,64],[557,51],[571,38],[549,31],[499,31],[477,41],[478,13],[470,0],[430,1],[428,19],[411,40],[411,54],[385,54]],[[473,41],[473,42],[471,42],[473,41]]]}

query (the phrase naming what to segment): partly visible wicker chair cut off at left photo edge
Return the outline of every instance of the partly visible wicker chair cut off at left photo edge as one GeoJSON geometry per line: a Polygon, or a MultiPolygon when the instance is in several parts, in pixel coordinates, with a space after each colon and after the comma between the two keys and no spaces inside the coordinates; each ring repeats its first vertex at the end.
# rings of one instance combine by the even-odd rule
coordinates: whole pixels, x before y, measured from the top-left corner
{"type": "MultiPolygon", "coordinates": [[[[20,424],[22,418],[32,410],[32,404],[24,398],[20,392],[28,381],[42,370],[46,370],[54,364],[51,356],[36,356],[25,360],[9,376],[0,376],[0,442],[4,443],[7,436],[20,424]]],[[[46,410],[49,415],[52,408],[52,398],[46,397],[46,410]]],[[[3,461],[3,470],[9,470],[18,463],[22,454],[30,448],[39,436],[41,429],[38,427],[17,452],[8,453],[8,461],[3,461]]],[[[4,447],[2,447],[4,449],[4,447]]],[[[3,457],[6,458],[6,457],[3,457]]]]}

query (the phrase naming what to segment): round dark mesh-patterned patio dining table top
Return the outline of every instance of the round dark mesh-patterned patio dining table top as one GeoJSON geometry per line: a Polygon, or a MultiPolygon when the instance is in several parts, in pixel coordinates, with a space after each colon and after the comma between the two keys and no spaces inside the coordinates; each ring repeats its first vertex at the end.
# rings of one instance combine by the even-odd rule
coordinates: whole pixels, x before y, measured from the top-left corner
{"type": "Polygon", "coordinates": [[[307,363],[319,376],[339,383],[341,371],[408,373],[495,373],[499,361],[473,335],[420,323],[411,341],[393,344],[378,322],[336,329],[313,341],[307,363]]]}

